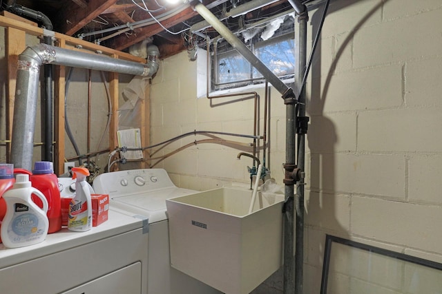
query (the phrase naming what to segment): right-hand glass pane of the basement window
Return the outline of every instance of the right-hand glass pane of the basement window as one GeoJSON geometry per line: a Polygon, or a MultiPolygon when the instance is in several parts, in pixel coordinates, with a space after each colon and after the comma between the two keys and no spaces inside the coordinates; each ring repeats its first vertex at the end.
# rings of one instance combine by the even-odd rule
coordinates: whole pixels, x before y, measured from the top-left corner
{"type": "MultiPolygon", "coordinates": [[[[256,45],[255,54],[269,67],[269,70],[276,74],[276,76],[285,76],[287,74],[294,74],[295,72],[295,41],[294,39],[287,39],[278,41],[276,43],[267,44],[264,46],[256,45]]],[[[253,67],[253,78],[262,77],[262,74],[253,67]]]]}

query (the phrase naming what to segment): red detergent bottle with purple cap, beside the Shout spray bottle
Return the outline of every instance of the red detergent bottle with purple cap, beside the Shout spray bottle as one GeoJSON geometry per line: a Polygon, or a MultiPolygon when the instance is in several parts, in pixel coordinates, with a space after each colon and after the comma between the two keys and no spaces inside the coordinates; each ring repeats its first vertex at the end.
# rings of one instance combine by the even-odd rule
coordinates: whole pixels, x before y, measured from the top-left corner
{"type": "MultiPolygon", "coordinates": [[[[52,162],[37,161],[34,169],[29,177],[32,187],[41,191],[48,200],[48,216],[49,229],[48,233],[55,233],[61,230],[61,200],[60,190],[58,187],[58,178],[54,174],[52,162]]],[[[40,208],[43,207],[41,200],[32,195],[32,201],[40,208]]]]}

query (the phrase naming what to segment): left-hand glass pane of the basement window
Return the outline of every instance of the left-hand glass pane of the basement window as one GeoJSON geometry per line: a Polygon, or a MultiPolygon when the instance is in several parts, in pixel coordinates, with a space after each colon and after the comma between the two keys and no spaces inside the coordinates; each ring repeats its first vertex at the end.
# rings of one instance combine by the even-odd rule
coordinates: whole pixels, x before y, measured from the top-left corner
{"type": "Polygon", "coordinates": [[[218,84],[250,78],[250,63],[236,50],[218,54],[218,84]]]}

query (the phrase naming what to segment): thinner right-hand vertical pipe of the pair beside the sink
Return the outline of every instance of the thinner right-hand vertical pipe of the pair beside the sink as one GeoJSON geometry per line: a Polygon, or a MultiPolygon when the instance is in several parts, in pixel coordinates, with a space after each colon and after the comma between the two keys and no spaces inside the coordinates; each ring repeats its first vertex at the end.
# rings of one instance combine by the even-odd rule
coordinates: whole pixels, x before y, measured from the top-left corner
{"type": "MultiPolygon", "coordinates": [[[[306,10],[307,11],[307,10],[306,10]]],[[[307,14],[298,17],[298,87],[306,74],[307,64],[307,14]]],[[[298,116],[305,116],[305,87],[298,96],[298,116]]],[[[298,132],[298,168],[305,170],[305,134],[303,130],[298,132]]],[[[304,273],[304,178],[300,178],[296,186],[296,246],[295,246],[295,293],[303,293],[304,273]]]]}

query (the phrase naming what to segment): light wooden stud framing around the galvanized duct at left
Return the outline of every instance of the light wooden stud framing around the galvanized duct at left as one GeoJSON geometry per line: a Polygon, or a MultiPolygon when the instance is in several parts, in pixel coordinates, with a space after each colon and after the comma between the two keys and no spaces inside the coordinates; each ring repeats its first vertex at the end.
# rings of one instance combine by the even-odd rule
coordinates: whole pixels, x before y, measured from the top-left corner
{"type": "MultiPolygon", "coordinates": [[[[30,23],[23,23],[17,19],[8,19],[8,17],[3,17],[0,15],[0,26],[6,28],[6,54],[8,58],[8,86],[6,87],[7,93],[7,107],[6,107],[6,132],[8,140],[12,138],[12,115],[14,113],[14,101],[15,101],[15,83],[17,78],[17,60],[19,54],[26,49],[26,34],[33,36],[41,36],[44,34],[44,30],[37,28],[30,23]]],[[[111,48],[106,48],[104,46],[96,45],[84,40],[73,38],[72,36],[66,36],[64,34],[54,33],[56,43],[61,48],[68,48],[70,50],[81,50],[85,52],[102,52],[114,59],[124,59],[128,61],[135,61],[140,63],[146,63],[146,59],[133,56],[125,52],[119,52],[118,50],[113,50],[111,48]],[[80,48],[79,48],[80,47],[80,48]]],[[[56,67],[55,76],[55,114],[54,114],[54,137],[55,137],[55,152],[54,152],[54,171],[55,174],[61,174],[64,169],[64,158],[65,156],[65,132],[64,132],[64,92],[65,92],[65,67],[56,67]]],[[[118,74],[110,72],[110,91],[111,99],[113,103],[113,115],[111,120],[111,127],[109,130],[109,148],[111,150],[115,149],[118,145],[117,142],[117,129],[118,129],[118,98],[119,98],[119,79],[118,74]]],[[[144,109],[148,109],[149,103],[145,102],[144,109]],[[147,108],[146,108],[147,107],[147,108]]],[[[142,114],[142,121],[144,122],[144,133],[150,133],[149,123],[149,112],[142,114]],[[146,117],[143,117],[147,114],[146,117]]],[[[148,140],[150,136],[144,136],[145,140],[148,140]]],[[[148,141],[146,141],[148,142],[148,141]]],[[[10,148],[10,145],[8,146],[10,148]]],[[[7,160],[9,160],[10,152],[6,152],[7,160]]]]}

